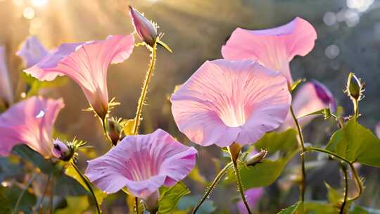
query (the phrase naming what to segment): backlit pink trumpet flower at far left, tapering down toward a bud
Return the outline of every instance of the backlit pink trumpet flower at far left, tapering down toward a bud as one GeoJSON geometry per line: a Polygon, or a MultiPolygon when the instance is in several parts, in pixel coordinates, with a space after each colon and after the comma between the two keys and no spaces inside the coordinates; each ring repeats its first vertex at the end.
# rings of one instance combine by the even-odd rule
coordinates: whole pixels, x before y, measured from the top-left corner
{"type": "Polygon", "coordinates": [[[63,106],[62,99],[41,96],[32,96],[11,106],[0,115],[0,155],[8,156],[13,146],[26,144],[45,158],[58,158],[51,131],[63,106]]]}

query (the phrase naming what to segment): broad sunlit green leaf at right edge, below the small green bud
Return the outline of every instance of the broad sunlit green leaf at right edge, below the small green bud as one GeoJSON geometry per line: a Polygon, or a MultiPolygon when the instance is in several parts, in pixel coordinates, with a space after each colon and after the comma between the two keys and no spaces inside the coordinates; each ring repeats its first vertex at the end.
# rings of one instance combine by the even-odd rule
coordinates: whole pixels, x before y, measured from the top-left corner
{"type": "Polygon", "coordinates": [[[380,139],[355,120],[349,120],[341,130],[336,131],[326,149],[351,163],[380,168],[380,139]]]}

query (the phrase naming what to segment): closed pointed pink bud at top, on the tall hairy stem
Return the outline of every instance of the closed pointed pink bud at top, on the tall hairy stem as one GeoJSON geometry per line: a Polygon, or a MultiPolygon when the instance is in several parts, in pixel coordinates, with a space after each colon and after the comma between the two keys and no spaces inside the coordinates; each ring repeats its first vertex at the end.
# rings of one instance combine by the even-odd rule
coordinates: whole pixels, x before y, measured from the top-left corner
{"type": "Polygon", "coordinates": [[[129,15],[131,15],[134,29],[139,35],[140,39],[149,46],[156,43],[158,37],[157,26],[145,18],[144,15],[136,11],[132,6],[129,6],[129,15]]]}

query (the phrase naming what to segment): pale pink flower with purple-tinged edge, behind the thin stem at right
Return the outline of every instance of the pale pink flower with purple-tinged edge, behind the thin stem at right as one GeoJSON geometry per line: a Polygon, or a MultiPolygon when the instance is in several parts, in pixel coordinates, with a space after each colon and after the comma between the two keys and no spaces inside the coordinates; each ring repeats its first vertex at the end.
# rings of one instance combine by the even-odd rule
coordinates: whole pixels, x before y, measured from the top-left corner
{"type": "MultiPolygon", "coordinates": [[[[317,80],[311,80],[301,85],[293,98],[293,110],[301,126],[307,125],[317,115],[308,115],[324,108],[330,108],[331,112],[336,111],[336,101],[330,90],[317,80]],[[308,116],[305,116],[308,115],[308,116]]],[[[281,125],[280,130],[295,127],[293,118],[289,113],[281,125]]]]}

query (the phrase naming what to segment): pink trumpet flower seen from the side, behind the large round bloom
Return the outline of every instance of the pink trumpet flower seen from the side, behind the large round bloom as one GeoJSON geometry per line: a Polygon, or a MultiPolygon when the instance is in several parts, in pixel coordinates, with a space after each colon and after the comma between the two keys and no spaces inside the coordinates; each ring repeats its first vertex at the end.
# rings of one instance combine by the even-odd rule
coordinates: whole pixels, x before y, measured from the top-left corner
{"type": "Polygon", "coordinates": [[[294,18],[290,23],[266,30],[236,28],[222,47],[224,58],[252,59],[267,68],[281,72],[289,84],[293,79],[289,62],[294,56],[305,56],[315,44],[317,32],[307,20],[294,18]]]}

